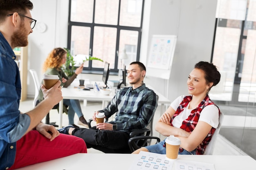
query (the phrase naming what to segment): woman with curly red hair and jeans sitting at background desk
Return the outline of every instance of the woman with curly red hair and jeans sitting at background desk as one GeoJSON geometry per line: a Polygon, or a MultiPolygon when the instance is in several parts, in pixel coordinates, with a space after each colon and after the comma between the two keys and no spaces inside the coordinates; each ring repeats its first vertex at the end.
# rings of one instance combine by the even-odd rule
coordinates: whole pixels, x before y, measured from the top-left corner
{"type": "MultiPolygon", "coordinates": [[[[43,71],[46,75],[58,75],[61,80],[61,86],[68,87],[76,78],[77,75],[82,73],[83,64],[76,68],[75,73],[71,77],[67,77],[64,71],[61,69],[61,66],[66,63],[67,60],[67,51],[63,48],[55,48],[53,49],[48,57],[46,58],[43,64],[43,71]]],[[[38,95],[39,102],[43,101],[43,93],[40,89],[38,95]]],[[[80,102],[77,99],[63,99],[63,104],[69,106],[67,115],[69,124],[74,124],[74,115],[75,113],[79,117],[78,124],[85,126],[88,128],[87,121],[83,117],[82,109],[80,106],[80,102]]],[[[67,110],[67,109],[65,109],[67,110]]]]}

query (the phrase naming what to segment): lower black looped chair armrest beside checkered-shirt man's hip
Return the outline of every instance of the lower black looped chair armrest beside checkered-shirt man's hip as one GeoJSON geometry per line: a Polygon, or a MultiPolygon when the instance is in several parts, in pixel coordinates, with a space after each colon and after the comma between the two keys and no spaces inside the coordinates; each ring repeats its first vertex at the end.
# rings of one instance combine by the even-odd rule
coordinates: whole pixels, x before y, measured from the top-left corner
{"type": "Polygon", "coordinates": [[[129,145],[129,148],[132,152],[134,152],[135,150],[141,148],[141,147],[144,147],[146,146],[146,142],[147,142],[147,139],[156,139],[156,143],[159,143],[160,142],[160,138],[159,137],[153,137],[153,136],[136,136],[136,137],[132,137],[128,140],[128,145],[129,145]],[[139,140],[144,140],[143,144],[142,145],[137,145],[137,141],[139,140]]]}

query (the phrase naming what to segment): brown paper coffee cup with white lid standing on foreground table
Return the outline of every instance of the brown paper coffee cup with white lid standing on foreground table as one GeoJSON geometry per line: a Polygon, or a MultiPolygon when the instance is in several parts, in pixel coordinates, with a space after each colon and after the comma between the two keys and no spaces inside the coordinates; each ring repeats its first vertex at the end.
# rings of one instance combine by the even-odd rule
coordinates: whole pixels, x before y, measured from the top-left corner
{"type": "Polygon", "coordinates": [[[177,159],[181,144],[180,139],[171,135],[165,139],[165,144],[166,157],[168,159],[177,159]]]}

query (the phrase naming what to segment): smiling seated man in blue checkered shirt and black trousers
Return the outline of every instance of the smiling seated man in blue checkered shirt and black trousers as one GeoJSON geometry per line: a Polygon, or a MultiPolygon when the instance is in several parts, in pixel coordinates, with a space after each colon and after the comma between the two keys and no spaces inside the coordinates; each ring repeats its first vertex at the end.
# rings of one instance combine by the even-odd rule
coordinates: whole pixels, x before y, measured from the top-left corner
{"type": "Polygon", "coordinates": [[[107,148],[108,150],[127,150],[130,132],[146,128],[157,108],[157,97],[154,91],[143,83],[146,68],[141,62],[132,62],[127,70],[131,87],[122,88],[103,110],[106,117],[116,113],[115,120],[99,123],[96,126],[74,128],[72,125],[59,129],[60,133],[81,137],[87,148],[107,148]]]}

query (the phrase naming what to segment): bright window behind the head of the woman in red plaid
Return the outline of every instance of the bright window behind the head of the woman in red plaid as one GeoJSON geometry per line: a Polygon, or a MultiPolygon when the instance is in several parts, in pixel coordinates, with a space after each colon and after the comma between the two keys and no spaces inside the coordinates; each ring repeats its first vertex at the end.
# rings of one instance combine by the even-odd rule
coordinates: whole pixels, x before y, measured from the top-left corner
{"type": "Polygon", "coordinates": [[[256,101],[255,10],[255,0],[218,0],[212,62],[222,78],[213,100],[256,101]]]}

